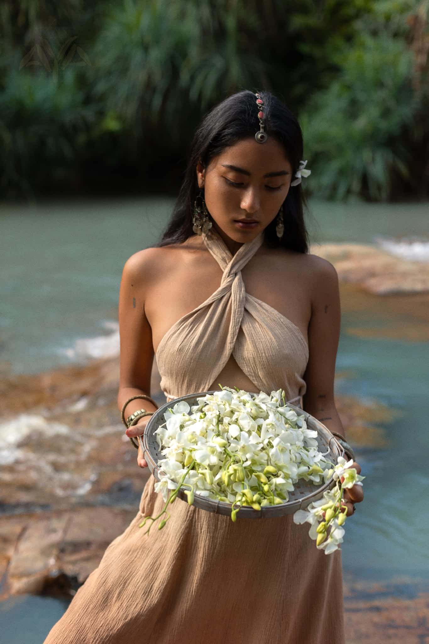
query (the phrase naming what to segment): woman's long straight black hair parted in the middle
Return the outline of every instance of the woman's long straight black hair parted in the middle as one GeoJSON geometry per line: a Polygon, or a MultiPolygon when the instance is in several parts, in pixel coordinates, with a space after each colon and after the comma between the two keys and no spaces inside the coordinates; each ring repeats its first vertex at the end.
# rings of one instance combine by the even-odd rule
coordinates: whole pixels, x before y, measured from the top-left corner
{"type": "MultiPolygon", "coordinates": [[[[292,176],[298,170],[303,155],[302,131],[297,118],[289,108],[268,91],[258,91],[264,100],[264,125],[269,137],[274,137],[285,148],[292,176]]],[[[190,147],[185,179],[174,205],[169,223],[157,247],[185,242],[192,231],[192,209],[199,193],[196,167],[199,159],[206,167],[210,159],[242,138],[255,136],[259,130],[258,108],[255,94],[250,90],[239,91],[206,114],[197,129],[190,147]]],[[[264,145],[263,143],[261,145],[264,145]]],[[[289,188],[283,203],[284,234],[279,240],[275,231],[276,219],[264,229],[264,242],[268,247],[284,247],[297,252],[308,252],[309,238],[304,223],[306,199],[301,184],[289,188]]]]}

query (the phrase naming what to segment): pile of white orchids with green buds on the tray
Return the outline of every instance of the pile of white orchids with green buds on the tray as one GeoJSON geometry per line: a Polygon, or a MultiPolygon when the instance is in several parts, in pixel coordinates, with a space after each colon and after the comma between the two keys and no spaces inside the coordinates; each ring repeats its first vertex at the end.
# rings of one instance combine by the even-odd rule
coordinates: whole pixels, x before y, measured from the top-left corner
{"type": "Polygon", "coordinates": [[[293,520],[311,524],[309,536],[325,554],[336,550],[347,513],[345,506],[341,512],[343,489],[361,485],[365,477],[350,468],[352,460],[340,457],[334,465],[325,459],[329,451],[318,451],[317,431],[307,429],[304,414],[286,405],[283,390],[252,397],[244,390],[219,386],[221,391],[198,397],[198,404],[179,401],[165,412],[165,422],[154,432],[165,457],[158,460],[155,491],[161,492],[165,506],[158,516],[145,517],[140,527],[147,520],[152,526],[165,515],[158,528],[164,527],[170,516],[167,507],[180,488],[188,488],[190,505],[194,494],[232,504],[235,521],[242,506],[259,510],[286,503],[301,478],[317,485],[333,477],[336,487],[307,510],[298,510],[293,520]]]}

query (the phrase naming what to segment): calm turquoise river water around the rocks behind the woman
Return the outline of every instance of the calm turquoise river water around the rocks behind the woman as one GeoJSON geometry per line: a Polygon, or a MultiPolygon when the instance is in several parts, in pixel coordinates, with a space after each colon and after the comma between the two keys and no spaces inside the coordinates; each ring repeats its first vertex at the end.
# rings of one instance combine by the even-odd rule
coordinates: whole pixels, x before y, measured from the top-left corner
{"type": "MultiPolygon", "coordinates": [[[[123,264],[158,238],[171,205],[160,198],[1,208],[0,361],[15,373],[37,373],[84,359],[76,349],[80,339],[113,336],[123,264]]],[[[428,204],[310,205],[315,243],[428,234],[428,204]]],[[[388,448],[356,450],[367,477],[365,502],[347,522],[343,567],[358,578],[427,580],[429,344],[347,333],[348,327],[379,326],[380,308],[377,316],[342,317],[336,369],[351,377],[340,379],[337,392],[401,412],[386,426],[388,448]]],[[[64,607],[33,597],[0,604],[2,643],[40,643],[64,607]]]]}

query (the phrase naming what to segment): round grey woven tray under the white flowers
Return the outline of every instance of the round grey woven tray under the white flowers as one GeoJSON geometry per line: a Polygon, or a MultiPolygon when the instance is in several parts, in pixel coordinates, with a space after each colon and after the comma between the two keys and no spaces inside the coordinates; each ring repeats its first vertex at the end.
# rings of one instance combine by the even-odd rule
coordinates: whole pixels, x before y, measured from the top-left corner
{"type": "MultiPolygon", "coordinates": [[[[186,396],[175,398],[174,401],[163,404],[156,412],[151,416],[151,419],[145,426],[145,432],[141,435],[138,440],[140,441],[141,450],[143,452],[143,458],[147,461],[149,469],[156,478],[160,480],[158,473],[161,468],[158,467],[158,460],[163,459],[161,455],[161,450],[158,446],[156,436],[154,431],[158,429],[161,425],[165,423],[164,413],[168,408],[172,408],[179,401],[186,401],[188,405],[192,406],[198,404],[197,398],[201,398],[206,394],[213,394],[215,391],[210,392],[201,392],[201,393],[191,393],[186,396]]],[[[250,392],[252,397],[257,396],[257,393],[250,392]]],[[[309,413],[304,412],[300,407],[293,404],[288,404],[292,410],[294,410],[298,416],[304,415],[304,418],[307,422],[307,428],[309,430],[316,430],[318,435],[316,440],[318,442],[318,450],[322,452],[329,452],[325,454],[325,458],[331,460],[333,463],[338,461],[338,457],[344,455],[344,450],[342,445],[336,440],[333,434],[328,430],[325,425],[318,421],[314,416],[311,416],[309,413]]],[[[162,448],[161,448],[162,449],[162,448]]],[[[239,509],[237,518],[264,518],[269,516],[283,516],[295,513],[299,509],[306,509],[306,507],[323,497],[324,492],[328,489],[333,488],[336,481],[333,478],[327,480],[325,484],[315,485],[311,481],[306,481],[300,479],[298,483],[295,484],[295,489],[293,492],[289,492],[289,500],[287,502],[279,504],[278,506],[264,506],[260,510],[255,510],[253,507],[242,506],[239,509]]],[[[183,501],[187,502],[187,496],[185,495],[185,488],[181,488],[178,493],[178,497],[183,501]]],[[[231,515],[231,505],[224,501],[217,501],[212,498],[202,497],[201,495],[195,493],[194,495],[194,506],[200,507],[208,512],[215,512],[220,515],[231,515]]]]}

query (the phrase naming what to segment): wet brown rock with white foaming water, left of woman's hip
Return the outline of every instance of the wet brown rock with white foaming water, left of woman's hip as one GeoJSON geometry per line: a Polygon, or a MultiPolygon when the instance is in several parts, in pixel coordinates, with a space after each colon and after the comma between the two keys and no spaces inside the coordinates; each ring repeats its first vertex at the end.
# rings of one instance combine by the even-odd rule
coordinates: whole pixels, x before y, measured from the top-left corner
{"type": "MultiPolygon", "coordinates": [[[[156,365],[153,373],[152,396],[163,404],[156,365]]],[[[147,473],[138,468],[137,450],[120,420],[118,377],[118,360],[105,359],[42,377],[0,380],[3,512],[20,504],[70,506],[82,498],[117,504],[120,497],[122,506],[135,504],[147,473]],[[112,487],[122,480],[129,482],[129,495],[112,487]]]]}

